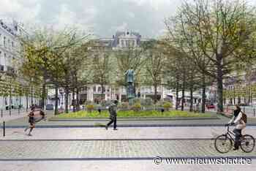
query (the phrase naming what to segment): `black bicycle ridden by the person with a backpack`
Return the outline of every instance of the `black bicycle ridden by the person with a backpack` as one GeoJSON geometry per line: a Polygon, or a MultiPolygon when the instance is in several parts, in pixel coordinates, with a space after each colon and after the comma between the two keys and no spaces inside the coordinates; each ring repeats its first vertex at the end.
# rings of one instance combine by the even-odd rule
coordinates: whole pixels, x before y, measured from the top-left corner
{"type": "MultiPolygon", "coordinates": [[[[235,136],[236,134],[231,132],[230,126],[227,125],[227,132],[215,138],[214,146],[216,150],[219,151],[219,153],[227,153],[230,151],[235,142],[235,136]]],[[[255,138],[250,134],[244,134],[239,139],[239,146],[245,153],[252,152],[255,148],[255,138]]]]}

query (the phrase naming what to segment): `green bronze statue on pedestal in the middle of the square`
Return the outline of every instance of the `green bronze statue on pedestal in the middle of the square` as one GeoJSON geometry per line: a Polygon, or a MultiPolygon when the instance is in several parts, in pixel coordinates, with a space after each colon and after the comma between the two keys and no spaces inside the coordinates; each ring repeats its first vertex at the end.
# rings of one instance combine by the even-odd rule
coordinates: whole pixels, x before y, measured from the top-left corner
{"type": "Polygon", "coordinates": [[[132,99],[135,98],[135,86],[134,86],[134,70],[128,69],[127,72],[125,72],[125,80],[127,82],[127,98],[129,99],[129,104],[132,104],[132,99]]]}

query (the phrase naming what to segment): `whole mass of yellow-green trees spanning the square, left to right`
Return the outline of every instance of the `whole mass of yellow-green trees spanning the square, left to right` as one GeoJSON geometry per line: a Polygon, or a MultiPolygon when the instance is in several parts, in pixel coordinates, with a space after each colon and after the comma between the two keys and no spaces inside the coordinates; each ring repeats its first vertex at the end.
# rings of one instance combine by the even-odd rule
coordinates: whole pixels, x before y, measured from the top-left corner
{"type": "MultiPolygon", "coordinates": [[[[77,96],[90,84],[118,88],[126,86],[124,72],[135,70],[135,88],[154,87],[176,91],[176,109],[181,92],[184,110],[185,91],[202,92],[202,112],[205,111],[206,87],[217,84],[218,111],[223,111],[223,80],[255,62],[256,12],[245,1],[195,0],[184,2],[176,16],[165,19],[167,33],[159,40],[141,42],[140,47],[120,50],[91,41],[89,35],[76,29],[54,31],[39,29],[29,39],[21,39],[24,60],[20,74],[42,86],[41,105],[44,106],[46,87],[64,88],[65,110],[68,95],[77,96]]],[[[139,90],[138,90],[139,91],[139,90]]],[[[56,109],[57,109],[56,102],[56,109]]],[[[57,113],[57,111],[56,111],[57,113]]]]}

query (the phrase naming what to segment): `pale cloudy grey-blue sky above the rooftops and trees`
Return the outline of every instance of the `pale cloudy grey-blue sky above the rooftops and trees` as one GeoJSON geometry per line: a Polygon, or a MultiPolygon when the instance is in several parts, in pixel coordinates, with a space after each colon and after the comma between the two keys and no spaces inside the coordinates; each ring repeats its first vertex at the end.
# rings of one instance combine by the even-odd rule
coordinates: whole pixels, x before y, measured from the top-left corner
{"type": "Polygon", "coordinates": [[[0,19],[46,26],[78,26],[99,37],[126,28],[146,37],[162,34],[179,0],[0,0],[0,19]]]}

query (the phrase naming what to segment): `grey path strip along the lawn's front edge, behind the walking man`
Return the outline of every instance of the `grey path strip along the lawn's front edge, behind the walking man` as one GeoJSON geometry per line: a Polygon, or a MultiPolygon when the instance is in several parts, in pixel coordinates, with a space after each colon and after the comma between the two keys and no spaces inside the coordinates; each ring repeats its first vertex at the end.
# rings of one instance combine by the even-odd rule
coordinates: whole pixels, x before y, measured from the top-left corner
{"type": "MultiPolygon", "coordinates": [[[[95,127],[108,123],[109,120],[92,120],[92,121],[41,121],[37,123],[38,128],[59,128],[59,127],[95,127]]],[[[230,121],[229,118],[222,117],[222,119],[211,120],[157,120],[154,121],[121,121],[117,120],[118,127],[143,127],[143,126],[224,126],[230,121]]],[[[19,118],[6,123],[7,127],[23,128],[28,125],[28,118],[19,118]]],[[[256,119],[248,120],[247,126],[256,126],[256,119]]]]}

